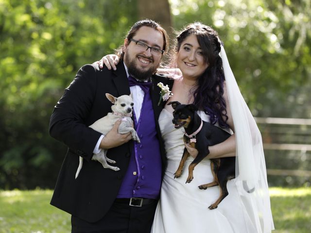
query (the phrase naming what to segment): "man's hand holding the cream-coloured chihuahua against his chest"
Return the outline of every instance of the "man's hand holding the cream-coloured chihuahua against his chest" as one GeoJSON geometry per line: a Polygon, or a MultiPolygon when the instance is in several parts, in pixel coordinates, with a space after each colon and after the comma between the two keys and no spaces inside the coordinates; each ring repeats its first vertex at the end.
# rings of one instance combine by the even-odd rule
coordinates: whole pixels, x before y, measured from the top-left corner
{"type": "Polygon", "coordinates": [[[120,124],[121,120],[117,120],[112,129],[104,136],[99,146],[101,149],[119,147],[132,139],[132,133],[118,133],[120,124]]]}

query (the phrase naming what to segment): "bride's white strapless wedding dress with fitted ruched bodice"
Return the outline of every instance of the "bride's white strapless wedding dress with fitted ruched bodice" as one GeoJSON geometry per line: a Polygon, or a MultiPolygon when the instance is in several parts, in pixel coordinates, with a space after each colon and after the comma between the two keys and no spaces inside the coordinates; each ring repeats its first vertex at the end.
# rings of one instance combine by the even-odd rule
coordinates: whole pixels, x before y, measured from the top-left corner
{"type": "MultiPolygon", "coordinates": [[[[201,118],[208,116],[199,112],[201,118]]],[[[184,151],[183,128],[175,129],[173,115],[163,109],[159,116],[159,126],[165,143],[168,165],[161,187],[152,233],[256,233],[250,219],[245,219],[245,208],[238,198],[234,180],[227,183],[229,195],[217,209],[208,206],[218,199],[219,187],[200,190],[199,185],[213,181],[210,161],[204,159],[194,169],[191,183],[186,183],[188,166],[193,160],[188,158],[182,175],[174,179],[184,151]]]]}

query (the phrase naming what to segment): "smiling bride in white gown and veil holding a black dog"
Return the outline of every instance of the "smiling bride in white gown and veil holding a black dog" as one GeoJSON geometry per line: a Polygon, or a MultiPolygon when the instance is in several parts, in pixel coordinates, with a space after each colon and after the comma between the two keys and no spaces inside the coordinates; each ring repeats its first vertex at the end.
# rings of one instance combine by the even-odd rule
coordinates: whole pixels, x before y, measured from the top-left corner
{"type": "MultiPolygon", "coordinates": [[[[203,73],[210,65],[205,61],[205,57],[207,57],[207,60],[213,58],[213,56],[208,56],[206,53],[215,49],[211,46],[208,50],[208,45],[205,44],[204,40],[208,40],[206,44],[217,47],[217,55],[220,52],[222,56],[226,80],[226,82],[223,82],[223,100],[225,101],[225,115],[227,116],[225,123],[232,130],[227,130],[232,135],[225,142],[209,147],[210,154],[195,166],[194,179],[191,183],[186,183],[188,177],[187,168],[193,160],[191,156],[184,166],[182,175],[178,179],[174,179],[174,172],[179,165],[185,146],[193,156],[196,155],[195,152],[197,151],[191,150],[190,147],[184,144],[183,129],[175,129],[172,123],[173,108],[171,105],[165,106],[159,116],[159,126],[167,152],[167,168],[163,177],[160,200],[155,211],[151,232],[269,233],[274,230],[274,225],[270,209],[261,136],[247,105],[242,99],[227,63],[225,51],[223,48],[221,51],[217,32],[210,27],[201,23],[193,23],[188,25],[177,37],[176,57],[174,60],[181,70],[182,76],[174,80],[173,97],[168,102],[179,101],[184,104],[195,102],[193,91],[198,88],[199,77],[203,76],[203,73]],[[219,45],[215,46],[217,43],[219,45]],[[234,109],[232,109],[232,106],[234,106],[234,109]],[[239,124],[238,122],[243,121],[243,119],[242,125],[239,124]],[[235,130],[236,132],[233,133],[235,130]],[[236,138],[238,136],[239,138],[236,138]],[[249,154],[249,156],[245,157],[243,153],[249,154]],[[218,199],[220,190],[219,186],[209,187],[207,190],[198,188],[201,184],[213,181],[208,158],[228,157],[236,154],[237,178],[227,183],[229,195],[219,204],[217,209],[209,210],[208,206],[218,199]],[[246,188],[242,186],[242,183],[245,182],[246,188]],[[255,191],[248,193],[247,191],[250,188],[247,185],[250,188],[254,187],[255,191]]],[[[210,62],[212,63],[212,61],[210,62]]],[[[221,81],[216,82],[219,82],[217,85],[221,85],[221,81]]],[[[199,95],[200,93],[196,94],[199,95]]],[[[204,111],[198,113],[203,120],[210,121],[210,116],[205,114],[204,111]]],[[[221,117],[225,119],[224,115],[221,117]]],[[[218,122],[216,123],[217,126],[219,126],[218,122]]]]}

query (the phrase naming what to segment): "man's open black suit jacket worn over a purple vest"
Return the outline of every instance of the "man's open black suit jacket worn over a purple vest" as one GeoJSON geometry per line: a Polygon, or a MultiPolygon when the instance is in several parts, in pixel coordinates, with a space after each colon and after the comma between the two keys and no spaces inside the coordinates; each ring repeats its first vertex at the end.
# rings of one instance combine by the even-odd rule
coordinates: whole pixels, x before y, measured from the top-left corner
{"type": "MultiPolygon", "coordinates": [[[[173,81],[154,75],[152,82],[151,96],[164,171],[166,158],[158,117],[165,103],[162,101],[159,106],[157,105],[160,98],[157,83],[162,82],[171,86],[173,81]]],[[[117,166],[121,169],[118,172],[105,169],[99,162],[91,161],[92,152],[101,133],[89,128],[88,125],[111,112],[112,104],[105,97],[105,93],[115,97],[130,94],[122,61],[116,71],[107,68],[101,70],[98,65],[85,65],[80,68],[75,79],[57,102],[50,120],[51,136],[68,146],[51,204],[88,222],[103,218],[111,207],[119,192],[133,147],[133,142],[130,141],[108,150],[107,156],[116,160],[117,166]],[[85,161],[78,178],[75,179],[79,156],[85,161]]]]}

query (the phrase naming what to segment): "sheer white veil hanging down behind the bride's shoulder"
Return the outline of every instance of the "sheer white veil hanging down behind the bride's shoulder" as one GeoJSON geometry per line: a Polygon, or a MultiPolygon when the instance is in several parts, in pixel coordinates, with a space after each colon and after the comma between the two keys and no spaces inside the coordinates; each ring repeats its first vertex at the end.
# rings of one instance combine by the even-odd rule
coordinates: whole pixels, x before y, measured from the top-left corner
{"type": "Polygon", "coordinates": [[[220,56],[223,61],[228,100],[235,128],[235,184],[245,208],[243,217],[251,219],[258,233],[270,233],[274,230],[274,223],[261,134],[242,97],[223,46],[221,46],[220,56]]]}

